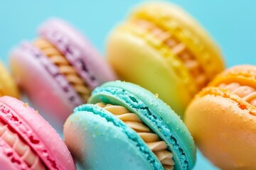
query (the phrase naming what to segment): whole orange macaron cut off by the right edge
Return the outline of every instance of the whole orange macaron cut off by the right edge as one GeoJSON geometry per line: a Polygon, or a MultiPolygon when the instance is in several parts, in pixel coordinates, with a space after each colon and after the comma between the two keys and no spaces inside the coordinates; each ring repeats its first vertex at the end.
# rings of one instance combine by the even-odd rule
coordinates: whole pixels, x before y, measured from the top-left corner
{"type": "Polygon", "coordinates": [[[219,74],[186,109],[185,123],[201,152],[220,169],[256,169],[256,67],[219,74]]]}

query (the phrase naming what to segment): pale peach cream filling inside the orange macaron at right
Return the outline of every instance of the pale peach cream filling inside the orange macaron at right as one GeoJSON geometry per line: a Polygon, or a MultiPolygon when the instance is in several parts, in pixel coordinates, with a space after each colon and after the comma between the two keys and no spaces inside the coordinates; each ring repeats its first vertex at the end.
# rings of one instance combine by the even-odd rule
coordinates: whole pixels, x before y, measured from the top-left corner
{"type": "Polygon", "coordinates": [[[240,98],[256,107],[256,90],[252,86],[242,86],[237,82],[233,82],[230,84],[220,84],[219,87],[232,91],[233,94],[238,95],[240,98]]]}

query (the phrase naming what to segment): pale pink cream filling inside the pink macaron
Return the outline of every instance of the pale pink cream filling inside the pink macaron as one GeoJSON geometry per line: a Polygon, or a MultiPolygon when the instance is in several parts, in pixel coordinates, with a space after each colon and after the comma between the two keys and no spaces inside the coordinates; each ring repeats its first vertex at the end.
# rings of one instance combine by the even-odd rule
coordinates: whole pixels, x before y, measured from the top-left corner
{"type": "Polygon", "coordinates": [[[8,143],[21,159],[32,170],[46,169],[41,159],[26,145],[15,132],[12,132],[8,125],[0,121],[0,137],[8,143]]]}

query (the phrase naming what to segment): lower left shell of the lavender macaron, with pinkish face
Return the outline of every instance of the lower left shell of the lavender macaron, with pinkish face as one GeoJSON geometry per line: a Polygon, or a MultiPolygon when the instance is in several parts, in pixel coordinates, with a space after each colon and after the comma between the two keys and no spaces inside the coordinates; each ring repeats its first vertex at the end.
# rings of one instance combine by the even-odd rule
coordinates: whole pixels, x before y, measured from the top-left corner
{"type": "MultiPolygon", "coordinates": [[[[36,47],[28,43],[24,43],[24,45],[36,50],[36,47]]],[[[45,57],[45,60],[48,60],[48,58],[45,57]]],[[[75,100],[78,101],[77,104],[71,103],[63,89],[57,83],[57,80],[46,71],[43,64],[38,62],[38,59],[28,52],[28,50],[17,47],[11,54],[10,63],[16,81],[21,86],[21,89],[26,91],[31,103],[51,118],[48,120],[53,121],[53,123],[58,123],[62,126],[68,115],[72,113],[73,108],[82,104],[80,96],[72,89],[72,86],[68,85],[68,81],[66,81],[63,84],[70,86],[69,93],[72,96],[76,96],[75,100]]],[[[58,69],[50,61],[49,64],[49,68],[58,69]]]]}

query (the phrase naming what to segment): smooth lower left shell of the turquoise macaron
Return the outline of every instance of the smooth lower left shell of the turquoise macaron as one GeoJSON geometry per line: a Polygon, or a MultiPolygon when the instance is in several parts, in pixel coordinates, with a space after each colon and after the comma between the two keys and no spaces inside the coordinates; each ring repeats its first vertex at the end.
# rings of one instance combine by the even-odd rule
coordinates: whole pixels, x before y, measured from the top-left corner
{"type": "Polygon", "coordinates": [[[113,123],[80,111],[64,125],[65,144],[86,169],[152,169],[145,157],[113,123]],[[82,149],[81,149],[82,148],[82,149]]]}

